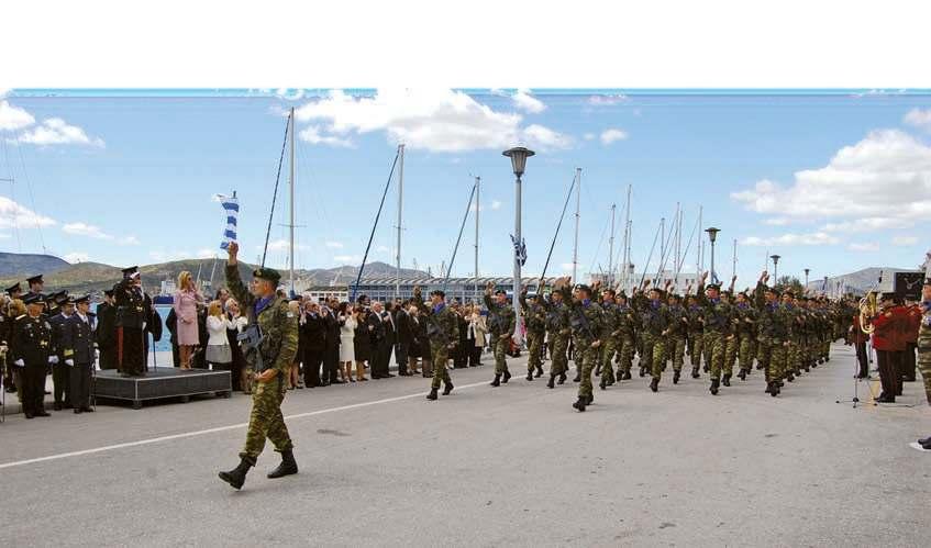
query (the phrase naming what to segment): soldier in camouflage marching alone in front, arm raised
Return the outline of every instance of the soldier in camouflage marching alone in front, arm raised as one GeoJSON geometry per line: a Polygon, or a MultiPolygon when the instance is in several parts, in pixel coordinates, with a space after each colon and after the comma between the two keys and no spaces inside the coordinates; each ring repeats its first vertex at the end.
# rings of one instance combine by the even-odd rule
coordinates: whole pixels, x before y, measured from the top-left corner
{"type": "Polygon", "coordinates": [[[265,448],[268,438],[275,450],[281,454],[281,463],[268,473],[268,478],[281,478],[298,472],[293,444],[281,415],[285,399],[285,378],[298,350],[298,318],[288,307],[286,299],[276,295],[281,276],[270,268],[253,272],[248,289],[240,278],[236,255],[239,244],[230,244],[226,261],[226,287],[247,313],[250,328],[258,327],[258,348],[248,348],[245,360],[255,372],[255,389],[252,396],[246,443],[240,452],[240,466],[229,472],[220,472],[220,479],[240,489],[248,469],[265,448]]]}

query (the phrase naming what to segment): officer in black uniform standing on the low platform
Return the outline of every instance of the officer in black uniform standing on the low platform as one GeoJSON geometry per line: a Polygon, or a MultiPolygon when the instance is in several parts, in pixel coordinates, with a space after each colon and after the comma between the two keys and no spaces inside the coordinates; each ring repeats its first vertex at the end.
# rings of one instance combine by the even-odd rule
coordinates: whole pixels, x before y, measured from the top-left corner
{"type": "Polygon", "coordinates": [[[142,291],[138,267],[123,269],[113,287],[117,306],[117,364],[123,377],[145,377],[145,327],[151,312],[142,291]]]}

